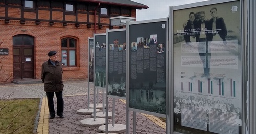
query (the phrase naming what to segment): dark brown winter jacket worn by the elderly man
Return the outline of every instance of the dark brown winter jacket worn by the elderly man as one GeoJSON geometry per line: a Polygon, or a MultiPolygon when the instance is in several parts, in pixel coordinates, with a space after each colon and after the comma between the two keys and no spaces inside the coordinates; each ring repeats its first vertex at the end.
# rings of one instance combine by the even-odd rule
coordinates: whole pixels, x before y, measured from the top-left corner
{"type": "Polygon", "coordinates": [[[42,64],[41,79],[44,83],[44,91],[46,92],[57,92],[63,91],[62,82],[62,64],[61,61],[56,61],[56,65],[53,66],[48,61],[42,64]]]}

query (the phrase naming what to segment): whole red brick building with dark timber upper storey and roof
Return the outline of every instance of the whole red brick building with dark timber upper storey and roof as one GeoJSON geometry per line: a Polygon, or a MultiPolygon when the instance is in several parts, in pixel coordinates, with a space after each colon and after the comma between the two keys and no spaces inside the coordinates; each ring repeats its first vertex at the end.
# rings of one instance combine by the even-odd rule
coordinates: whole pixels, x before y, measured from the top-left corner
{"type": "Polygon", "coordinates": [[[135,17],[148,6],[130,0],[0,0],[0,83],[40,79],[56,50],[63,79],[87,78],[88,37],[104,33],[110,17],[135,17]]]}

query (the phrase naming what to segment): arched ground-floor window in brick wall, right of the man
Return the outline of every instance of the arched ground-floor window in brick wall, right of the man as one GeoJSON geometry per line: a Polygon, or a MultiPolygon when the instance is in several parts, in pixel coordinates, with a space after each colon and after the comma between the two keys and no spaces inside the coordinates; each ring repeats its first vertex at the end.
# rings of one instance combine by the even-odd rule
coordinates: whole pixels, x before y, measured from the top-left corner
{"type": "Polygon", "coordinates": [[[63,38],[61,40],[61,62],[63,66],[76,66],[76,39],[63,38]]]}

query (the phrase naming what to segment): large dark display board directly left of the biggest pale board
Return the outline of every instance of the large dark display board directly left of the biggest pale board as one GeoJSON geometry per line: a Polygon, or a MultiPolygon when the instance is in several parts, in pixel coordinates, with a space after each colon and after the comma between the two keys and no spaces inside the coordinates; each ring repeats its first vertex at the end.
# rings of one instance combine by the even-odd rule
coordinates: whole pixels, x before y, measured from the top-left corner
{"type": "Polygon", "coordinates": [[[130,110],[166,114],[166,22],[164,18],[127,25],[130,110]]]}

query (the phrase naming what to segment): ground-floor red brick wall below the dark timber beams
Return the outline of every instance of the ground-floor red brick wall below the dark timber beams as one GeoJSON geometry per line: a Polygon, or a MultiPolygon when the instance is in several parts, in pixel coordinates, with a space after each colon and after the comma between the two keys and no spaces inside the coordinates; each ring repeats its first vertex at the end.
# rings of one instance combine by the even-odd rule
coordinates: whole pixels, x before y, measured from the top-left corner
{"type": "MultiPolygon", "coordinates": [[[[40,25],[35,25],[26,21],[26,24],[20,25],[19,21],[10,20],[9,24],[5,24],[4,20],[0,20],[0,42],[4,41],[0,46],[1,48],[8,48],[9,55],[5,56],[2,63],[4,73],[1,75],[0,81],[6,79],[13,72],[13,48],[12,37],[18,34],[27,34],[34,37],[34,74],[36,79],[41,78],[41,65],[48,60],[48,52],[50,50],[56,50],[61,52],[61,38],[74,37],[77,40],[79,47],[77,52],[79,53],[77,68],[64,68],[63,79],[77,79],[87,78],[87,66],[88,66],[88,37],[93,37],[94,27],[87,28],[86,25],[80,24],[79,28],[76,28],[74,24],[69,24],[65,27],[62,23],[54,23],[53,26],[49,26],[48,22],[40,22],[40,25]],[[68,29],[68,30],[67,30],[68,29]],[[22,32],[21,30],[26,30],[22,32]]],[[[104,33],[105,29],[98,29],[97,33],[104,33]]],[[[59,60],[60,55],[59,55],[59,60]]],[[[11,77],[12,78],[12,77],[11,77]]],[[[10,82],[12,79],[9,79],[10,82]]]]}

